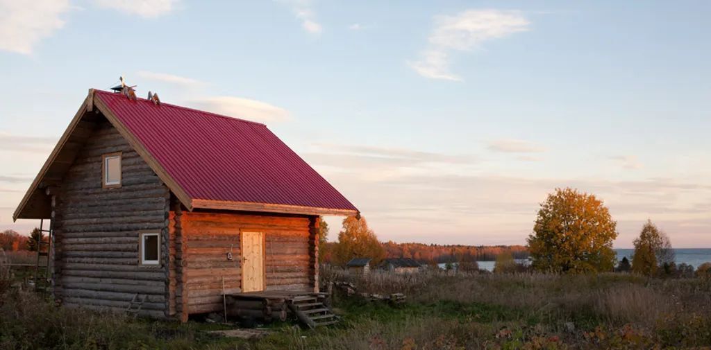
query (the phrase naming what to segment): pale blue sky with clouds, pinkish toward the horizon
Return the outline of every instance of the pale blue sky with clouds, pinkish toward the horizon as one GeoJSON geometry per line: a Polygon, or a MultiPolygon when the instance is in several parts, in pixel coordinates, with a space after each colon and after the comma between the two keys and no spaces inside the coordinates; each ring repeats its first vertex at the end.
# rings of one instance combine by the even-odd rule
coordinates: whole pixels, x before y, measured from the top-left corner
{"type": "Polygon", "coordinates": [[[616,246],[648,218],[711,246],[707,1],[19,2],[0,0],[0,229],[36,225],[11,212],[123,74],[266,123],[383,240],[524,244],[571,186],[616,246]]]}

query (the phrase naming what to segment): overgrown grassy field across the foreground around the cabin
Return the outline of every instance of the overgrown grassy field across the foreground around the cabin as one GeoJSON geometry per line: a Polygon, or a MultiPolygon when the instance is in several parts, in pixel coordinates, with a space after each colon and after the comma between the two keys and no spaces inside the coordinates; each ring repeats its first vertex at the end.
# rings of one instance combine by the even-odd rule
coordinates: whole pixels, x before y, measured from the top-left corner
{"type": "MultiPolygon", "coordinates": [[[[324,273],[324,275],[328,275],[324,273]]],[[[333,277],[333,275],[331,275],[333,277]]],[[[373,274],[358,292],[404,292],[404,305],[336,295],[336,327],[270,324],[258,341],[228,325],[58,308],[28,292],[0,306],[0,349],[688,349],[711,346],[711,282],[627,274],[373,274]]]]}

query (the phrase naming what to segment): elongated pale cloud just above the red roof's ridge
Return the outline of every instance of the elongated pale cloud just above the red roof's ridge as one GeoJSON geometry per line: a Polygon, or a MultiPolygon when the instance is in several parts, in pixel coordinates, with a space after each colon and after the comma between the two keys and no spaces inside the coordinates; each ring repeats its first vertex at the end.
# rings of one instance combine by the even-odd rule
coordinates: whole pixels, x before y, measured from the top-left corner
{"type": "Polygon", "coordinates": [[[196,108],[212,111],[213,113],[263,123],[286,121],[289,119],[289,112],[286,109],[273,106],[266,102],[242,97],[203,97],[201,99],[194,99],[190,104],[196,106],[196,108]]]}

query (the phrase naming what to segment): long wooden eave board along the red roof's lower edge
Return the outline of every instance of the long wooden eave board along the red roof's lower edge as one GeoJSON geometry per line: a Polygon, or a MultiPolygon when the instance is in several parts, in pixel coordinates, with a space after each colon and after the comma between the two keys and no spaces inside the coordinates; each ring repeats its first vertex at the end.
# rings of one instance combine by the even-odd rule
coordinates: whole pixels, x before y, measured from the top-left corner
{"type": "Polygon", "coordinates": [[[320,207],[304,207],[299,205],[288,204],[232,202],[212,199],[193,199],[193,208],[222,209],[245,212],[272,212],[301,215],[334,215],[342,217],[353,217],[355,215],[358,215],[358,210],[355,209],[333,209],[320,207]]]}

